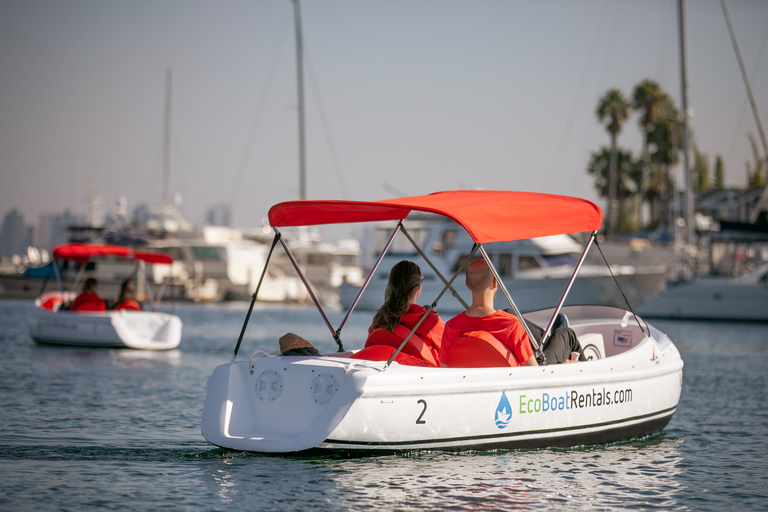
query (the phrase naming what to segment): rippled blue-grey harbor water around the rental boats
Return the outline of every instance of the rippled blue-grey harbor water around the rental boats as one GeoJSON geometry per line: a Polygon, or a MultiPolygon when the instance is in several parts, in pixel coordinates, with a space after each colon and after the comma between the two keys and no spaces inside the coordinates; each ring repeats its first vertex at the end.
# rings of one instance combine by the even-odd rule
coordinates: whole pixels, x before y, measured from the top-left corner
{"type": "MultiPolygon", "coordinates": [[[[651,321],[685,361],[678,411],[651,438],[345,459],[238,453],[200,434],[206,380],[231,359],[245,303],[167,305],[184,322],[168,352],[37,345],[31,307],[0,301],[0,510],[768,507],[765,324],[651,321]]],[[[345,348],[359,348],[370,316],[350,317],[345,348]]],[[[335,349],[314,308],[258,306],[240,357],[277,353],[286,332],[335,349]]]]}

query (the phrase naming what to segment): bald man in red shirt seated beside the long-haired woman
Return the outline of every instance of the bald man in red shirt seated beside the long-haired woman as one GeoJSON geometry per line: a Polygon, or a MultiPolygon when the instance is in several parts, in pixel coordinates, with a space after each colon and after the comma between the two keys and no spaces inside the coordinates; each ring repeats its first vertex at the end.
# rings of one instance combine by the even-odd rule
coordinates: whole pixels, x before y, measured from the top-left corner
{"type": "MultiPolygon", "coordinates": [[[[498,282],[484,260],[473,261],[467,267],[466,285],[472,292],[472,304],[465,312],[445,323],[440,359],[446,361],[451,344],[466,333],[485,331],[506,345],[520,366],[538,366],[530,338],[520,320],[511,313],[494,308],[498,282]]],[[[540,340],[544,329],[531,322],[528,322],[528,327],[540,340]]],[[[570,357],[573,352],[579,354],[579,360],[586,360],[572,329],[567,325],[553,329],[544,346],[547,364],[572,363],[574,361],[570,357]]]]}

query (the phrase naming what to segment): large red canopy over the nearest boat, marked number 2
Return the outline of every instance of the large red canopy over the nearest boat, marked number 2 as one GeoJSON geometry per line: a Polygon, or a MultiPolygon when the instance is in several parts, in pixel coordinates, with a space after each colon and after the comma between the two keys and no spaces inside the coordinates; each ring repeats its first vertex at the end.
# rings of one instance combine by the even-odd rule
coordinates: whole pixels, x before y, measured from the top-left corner
{"type": "Polygon", "coordinates": [[[412,211],[453,219],[478,243],[597,231],[600,208],[577,197],[455,190],[384,201],[289,201],[270,208],[274,227],[402,220],[412,211]]]}

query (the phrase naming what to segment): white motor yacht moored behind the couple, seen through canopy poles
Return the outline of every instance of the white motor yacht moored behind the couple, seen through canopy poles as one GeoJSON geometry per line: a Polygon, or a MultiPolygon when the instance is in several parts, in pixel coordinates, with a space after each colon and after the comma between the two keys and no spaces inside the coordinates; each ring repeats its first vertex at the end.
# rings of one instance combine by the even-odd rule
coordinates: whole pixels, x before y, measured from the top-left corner
{"type": "MultiPolygon", "coordinates": [[[[469,234],[448,219],[409,219],[408,227],[412,238],[443,275],[452,273],[472,249],[469,234]]],[[[389,226],[382,226],[376,230],[374,243],[383,244],[390,229],[389,226]]],[[[402,259],[419,257],[417,250],[404,238],[396,239],[381,260],[376,277],[371,280],[367,293],[357,303],[358,310],[378,309],[392,266],[402,259]]],[[[534,311],[557,302],[573,274],[582,246],[568,235],[552,235],[489,243],[485,245],[485,250],[504,281],[504,286],[514,290],[520,310],[534,311]]],[[[579,279],[568,294],[566,304],[620,306],[624,304],[623,291],[633,306],[639,306],[664,289],[668,273],[668,269],[663,266],[611,265],[609,268],[602,262],[585,262],[579,271],[579,279]],[[614,279],[618,280],[621,290],[614,279]]],[[[422,275],[422,295],[434,297],[440,293],[443,283],[435,271],[426,267],[422,269],[422,275]]],[[[349,307],[352,304],[358,289],[359,285],[352,283],[344,283],[339,287],[342,306],[349,307]]],[[[469,300],[469,290],[459,288],[456,291],[464,301],[469,300]]],[[[508,307],[503,304],[503,296],[498,296],[496,301],[502,309],[508,307]]],[[[462,303],[452,295],[440,302],[442,314],[461,311],[464,311],[462,303]]]]}

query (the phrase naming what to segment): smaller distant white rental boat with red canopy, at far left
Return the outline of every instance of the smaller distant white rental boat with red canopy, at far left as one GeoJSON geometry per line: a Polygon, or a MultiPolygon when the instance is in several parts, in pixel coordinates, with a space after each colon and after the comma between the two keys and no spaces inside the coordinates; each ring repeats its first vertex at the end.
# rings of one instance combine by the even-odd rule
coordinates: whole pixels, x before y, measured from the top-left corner
{"type": "MultiPolygon", "coordinates": [[[[91,258],[127,258],[145,263],[170,264],[165,254],[137,252],[115,245],[68,244],[54,249],[54,258],[80,263],[80,279],[91,258]]],[[[88,347],[126,347],[140,350],[169,350],[181,342],[181,319],[157,311],[75,312],[61,306],[75,297],[74,292],[49,292],[35,301],[27,316],[29,335],[38,343],[88,347]]],[[[159,296],[154,306],[159,302],[159,296]]]]}

